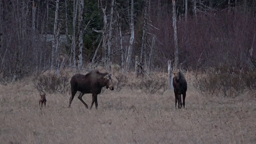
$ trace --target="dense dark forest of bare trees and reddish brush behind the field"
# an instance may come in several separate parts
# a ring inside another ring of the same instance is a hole
[[[255,70],[255,0],[176,0],[175,8],[180,69]],[[0,76],[108,64],[128,71],[136,56],[145,70],[167,71],[172,25],[171,0],[0,0]]]

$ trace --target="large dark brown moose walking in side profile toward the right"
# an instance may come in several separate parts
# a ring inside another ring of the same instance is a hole
[[[80,91],[78,99],[84,104],[86,108],[88,105],[82,99],[84,94],[92,94],[92,105],[95,102],[96,109],[98,108],[97,96],[100,94],[102,87],[106,86],[110,90],[114,90],[112,84],[111,74],[105,72],[101,73],[98,70],[93,70],[86,75],[75,74],[70,80],[71,85],[71,97],[69,99],[69,108],[72,103],[72,100],[77,91]],[[90,109],[92,109],[92,105]]]

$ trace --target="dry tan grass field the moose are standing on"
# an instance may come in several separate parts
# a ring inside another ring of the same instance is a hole
[[[71,78],[71,76],[70,76]],[[174,92],[145,94],[125,86],[104,90],[98,110],[88,110],[70,92],[40,95],[32,78],[0,85],[1,144],[256,144],[256,97],[203,96],[188,78],[186,108]],[[85,94],[90,107],[92,96]]]

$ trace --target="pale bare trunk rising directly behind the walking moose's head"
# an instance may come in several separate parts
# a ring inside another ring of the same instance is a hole
[[[111,72],[111,38],[112,38],[112,25],[113,25],[113,7],[114,0],[111,2],[110,22],[109,22],[109,33],[108,33],[108,52],[107,52],[107,71]]]

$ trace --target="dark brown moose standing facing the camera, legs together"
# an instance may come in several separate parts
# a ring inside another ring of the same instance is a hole
[[[174,75],[172,85],[175,94],[175,107],[177,106],[178,102],[178,108],[182,108],[182,105],[185,108],[187,81],[180,70],[174,70],[172,73]],[[183,97],[183,103],[181,102],[181,95]]]

